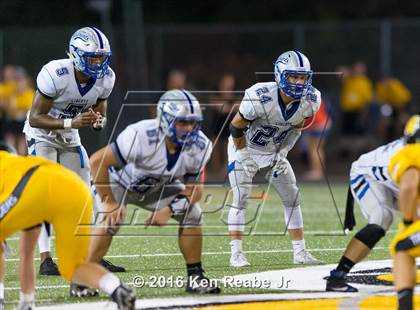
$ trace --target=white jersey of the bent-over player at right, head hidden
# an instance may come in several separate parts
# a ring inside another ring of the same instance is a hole
[[[369,176],[370,180],[383,184],[395,196],[398,195],[399,188],[388,174],[388,165],[391,158],[403,147],[404,140],[401,138],[363,154],[351,166],[350,182],[356,184],[361,176]]]

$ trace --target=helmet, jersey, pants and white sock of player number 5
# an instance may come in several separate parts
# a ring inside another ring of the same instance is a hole
[[[98,100],[107,99],[115,83],[115,73],[109,67],[111,46],[99,29],[84,27],[77,30],[70,38],[68,51],[69,59],[50,61],[36,79],[38,92],[53,102],[48,115],[57,119],[73,119]],[[75,70],[91,79],[80,84]],[[73,170],[90,187],[89,157],[80,142],[78,130],[34,128],[29,124],[29,115],[30,112],[23,129],[28,153]],[[41,253],[50,251],[50,232],[47,230],[43,225],[38,242]]]

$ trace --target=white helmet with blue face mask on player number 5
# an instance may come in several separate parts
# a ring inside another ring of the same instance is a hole
[[[99,29],[84,27],[71,36],[68,55],[77,71],[100,79],[108,73],[112,52],[108,39]]]

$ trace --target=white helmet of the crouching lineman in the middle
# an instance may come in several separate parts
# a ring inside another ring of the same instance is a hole
[[[174,89],[165,92],[157,106],[157,118],[163,133],[177,145],[191,145],[198,137],[203,114],[197,98],[187,90]],[[192,132],[179,131],[176,122],[194,123]]]

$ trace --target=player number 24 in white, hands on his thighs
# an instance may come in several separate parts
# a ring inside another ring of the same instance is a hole
[[[319,263],[305,247],[300,193],[287,154],[299,139],[304,120],[318,111],[321,93],[312,86],[310,63],[301,52],[281,54],[274,75],[275,82],[257,83],[245,91],[230,124],[228,173],[233,203],[228,223],[233,267],[249,265],[242,250],[245,210],[252,179],[265,167],[271,168],[267,180],[284,204],[294,263]]]

